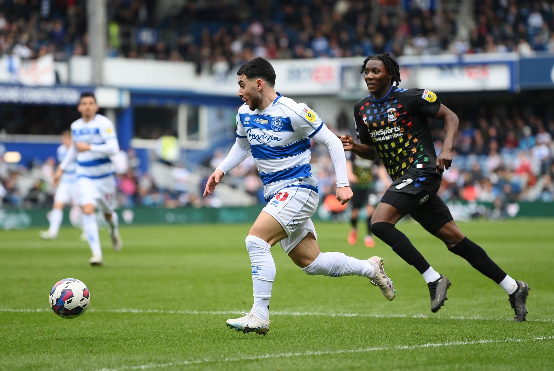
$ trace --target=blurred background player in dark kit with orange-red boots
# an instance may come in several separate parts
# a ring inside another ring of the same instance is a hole
[[[374,247],[375,241],[371,237],[371,216],[375,211],[375,205],[377,205],[378,200],[373,176],[377,172],[379,179],[387,187],[391,184],[391,181],[389,180],[387,170],[380,162],[379,165],[376,165],[375,162],[359,157],[351,151],[346,154],[346,171],[354,194],[350,201],[352,204],[352,215],[350,218],[352,230],[348,234],[348,243],[355,245],[358,240],[358,213],[363,206],[366,206],[367,234],[363,238],[363,243],[365,243],[366,247]]]

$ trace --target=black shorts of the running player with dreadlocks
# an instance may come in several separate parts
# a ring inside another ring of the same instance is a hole
[[[400,215],[411,215],[425,230],[434,235],[453,221],[448,206],[437,195],[441,177],[436,172],[408,170],[395,180],[381,202],[394,206]]]

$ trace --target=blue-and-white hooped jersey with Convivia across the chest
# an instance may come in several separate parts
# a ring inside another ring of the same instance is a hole
[[[289,186],[317,192],[317,180],[310,167],[310,138],[323,125],[306,104],[279,93],[263,111],[251,111],[246,103],[240,106],[237,136],[250,144],[266,201]]]

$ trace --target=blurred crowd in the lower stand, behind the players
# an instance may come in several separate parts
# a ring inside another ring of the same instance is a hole
[[[349,121],[348,114],[342,111],[336,118],[334,130],[345,133]],[[438,153],[444,131],[439,123],[432,122],[431,128]],[[493,202],[499,210],[516,201],[554,201],[553,137],[552,108],[541,111],[526,106],[512,110],[505,105],[494,111],[482,108],[473,116],[460,116],[453,166],[444,172],[440,195],[447,201]],[[176,162],[167,172],[172,186],[164,189],[156,186],[151,172],[141,171],[140,159],[130,149],[119,156],[124,162],[117,176],[119,204],[122,207],[170,208],[224,205],[217,198],[201,196],[207,176],[224,156],[224,151],[217,150],[204,161],[204,166],[194,170]],[[3,207],[50,207],[56,165],[53,157],[42,164],[25,167],[7,164],[0,156],[0,204]],[[335,192],[335,171],[326,149],[315,143],[312,143],[311,166],[323,201],[326,195]],[[249,194],[252,204],[264,202],[263,186],[252,157],[233,169],[223,182]],[[383,190],[383,185],[377,182],[376,191]]]

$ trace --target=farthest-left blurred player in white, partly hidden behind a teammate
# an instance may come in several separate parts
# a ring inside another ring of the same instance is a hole
[[[62,162],[68,153],[71,146],[71,131],[66,130],[61,133],[61,145],[58,147],[57,156],[58,161]],[[72,161],[66,167],[64,175],[61,176],[58,189],[54,194],[54,205],[52,211],[50,211],[50,227],[48,231],[40,231],[39,236],[43,240],[54,240],[58,238],[58,232],[60,230],[61,221],[64,217],[64,206],[71,205],[76,207],[79,205],[78,190],[77,190],[77,176],[75,170],[77,169],[77,162]]]

